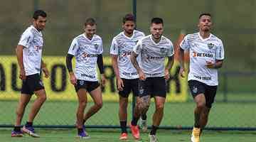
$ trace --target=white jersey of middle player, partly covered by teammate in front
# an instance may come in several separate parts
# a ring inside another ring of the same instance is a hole
[[[122,32],[113,38],[110,54],[118,55],[117,64],[121,78],[139,78],[137,70],[130,60],[130,55],[137,41],[144,36],[144,33],[134,30],[132,37],[127,37],[127,35],[124,35],[124,32]],[[139,58],[137,58],[137,61],[139,62]]]

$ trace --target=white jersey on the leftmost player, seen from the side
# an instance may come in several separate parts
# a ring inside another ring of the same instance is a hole
[[[43,35],[34,26],[29,26],[23,32],[18,45],[23,48],[23,66],[26,76],[40,73],[42,49],[43,49]]]

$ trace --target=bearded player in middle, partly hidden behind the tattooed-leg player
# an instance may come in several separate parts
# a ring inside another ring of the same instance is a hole
[[[117,89],[119,93],[119,121],[121,127],[120,140],[126,140],[127,135],[127,104],[129,93],[132,91],[137,102],[139,102],[139,75],[133,67],[130,60],[132,49],[139,39],[144,37],[144,33],[134,30],[135,18],[132,14],[124,16],[122,28],[124,31],[116,35],[112,40],[110,55],[112,56],[112,67],[114,74],[117,77]],[[138,105],[134,110],[134,115],[139,116]],[[144,129],[146,129],[144,119]],[[134,138],[139,138],[139,131],[133,133]]]

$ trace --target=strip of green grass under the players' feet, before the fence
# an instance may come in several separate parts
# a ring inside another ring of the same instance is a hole
[[[38,133],[41,134],[41,138],[31,138],[24,136],[23,138],[11,138],[10,129],[0,130],[1,142],[76,142],[76,141],[88,141],[88,142],[107,142],[107,141],[119,141],[119,132],[112,129],[105,130],[89,130],[90,139],[80,140],[75,138],[75,129],[39,129]],[[190,131],[158,131],[158,138],[160,142],[169,141],[186,141],[189,142]],[[141,133],[142,138],[139,141],[148,141],[148,133]],[[255,142],[256,132],[253,131],[204,131],[201,141],[207,142]],[[129,140],[135,141],[132,135],[129,133]],[[139,142],[138,141],[138,142]]]

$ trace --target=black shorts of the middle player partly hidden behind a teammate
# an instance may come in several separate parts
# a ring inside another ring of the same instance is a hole
[[[123,90],[118,92],[118,94],[121,97],[129,97],[129,94],[131,91],[134,97],[139,96],[139,79],[129,80],[129,79],[122,78],[122,81],[124,83]]]

